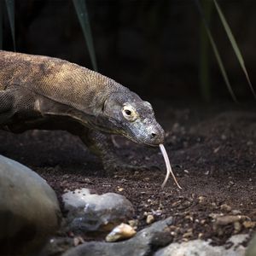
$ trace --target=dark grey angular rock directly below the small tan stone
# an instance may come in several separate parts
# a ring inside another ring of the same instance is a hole
[[[172,241],[169,226],[172,217],[155,222],[149,228],[141,230],[127,241],[102,242],[90,241],[74,247],[63,256],[146,256]]]

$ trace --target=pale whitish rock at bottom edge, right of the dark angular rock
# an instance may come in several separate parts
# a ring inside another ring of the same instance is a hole
[[[209,241],[193,240],[182,243],[172,243],[168,247],[160,249],[154,256],[244,256],[246,248],[241,245],[247,239],[247,235],[230,237],[232,247],[215,247]],[[255,254],[254,254],[255,255]]]

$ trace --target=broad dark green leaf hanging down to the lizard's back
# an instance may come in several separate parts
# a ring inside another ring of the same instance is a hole
[[[93,40],[91,36],[91,31],[90,31],[90,20],[89,20],[85,0],[73,0],[73,5],[76,9],[77,15],[79,17],[79,22],[84,33],[84,38],[89,50],[92,67],[95,71],[97,71],[96,54],[93,46]]]

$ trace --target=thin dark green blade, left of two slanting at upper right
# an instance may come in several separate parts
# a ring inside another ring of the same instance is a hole
[[[206,19],[204,13],[203,13],[202,8],[201,8],[201,3],[200,3],[198,0],[195,0],[195,4],[196,4],[196,6],[197,6],[197,8],[198,8],[198,10],[199,10],[199,13],[200,13],[200,15],[201,15],[202,22],[203,22],[203,24],[204,24],[204,26],[205,26],[205,29],[206,29],[206,31],[207,31],[208,38],[209,38],[210,43],[211,43],[211,45],[212,45],[212,50],[213,50],[213,53],[214,53],[214,55],[215,55],[215,57],[216,57],[216,60],[218,61],[218,67],[219,67],[219,69],[220,69],[220,72],[222,73],[222,76],[223,76],[223,78],[224,78],[224,82],[225,82],[225,84],[227,85],[227,88],[228,88],[228,90],[230,91],[230,95],[232,96],[234,102],[237,102],[237,100],[236,100],[236,95],[235,95],[235,93],[234,93],[234,91],[233,91],[233,89],[232,89],[232,87],[231,87],[231,84],[230,84],[230,79],[229,79],[229,77],[228,77],[228,75],[227,75],[227,73],[226,73],[226,70],[225,70],[225,68],[224,68],[223,61],[222,61],[222,59],[221,59],[221,57],[220,57],[220,55],[219,55],[217,45],[215,44],[215,41],[214,41],[214,39],[212,38],[212,32],[211,32],[211,30],[210,30],[210,28],[209,28],[207,19]]]

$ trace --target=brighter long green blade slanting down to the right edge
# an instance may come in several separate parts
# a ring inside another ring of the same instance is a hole
[[[240,51],[238,45],[236,44],[236,39],[234,38],[234,35],[231,32],[230,26],[229,26],[227,20],[225,19],[223,12],[222,12],[222,10],[220,9],[220,7],[218,5],[217,0],[213,0],[213,2],[214,2],[215,7],[217,9],[219,18],[220,18],[220,20],[222,22],[222,25],[224,26],[224,30],[227,33],[228,38],[230,39],[230,44],[232,45],[232,47],[233,47],[233,49],[234,49],[234,51],[236,53],[236,58],[239,61],[241,69],[242,69],[243,73],[245,74],[245,76],[247,78],[247,83],[249,84],[250,89],[253,92],[253,96],[256,99],[256,94],[255,94],[255,91],[253,89],[253,84],[251,83],[251,80],[250,80],[249,75],[247,73],[247,68],[245,67],[245,63],[244,63],[244,60],[242,58],[241,51]]]

